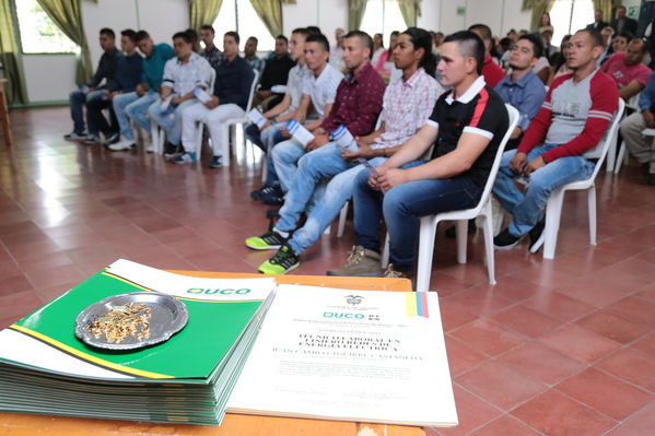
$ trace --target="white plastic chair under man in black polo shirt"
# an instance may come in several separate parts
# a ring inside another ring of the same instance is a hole
[[[475,208],[466,209],[461,211],[443,212],[436,215],[428,215],[421,217],[420,231],[419,231],[419,264],[417,271],[417,292],[425,292],[430,286],[430,275],[432,273],[432,254],[434,251],[434,237],[436,235],[436,226],[440,221],[456,221],[457,228],[457,261],[459,263],[466,263],[466,244],[468,233],[468,220],[477,216],[482,216],[484,225],[482,231],[484,234],[484,250],[487,252],[487,270],[489,272],[489,283],[495,284],[494,273],[494,258],[493,258],[493,212],[491,209],[491,188],[495,181],[501,158],[505,151],[505,145],[510,140],[510,135],[514,131],[516,123],[518,122],[518,110],[511,105],[505,105],[507,114],[510,116],[510,123],[507,131],[499,144],[489,178],[484,185],[484,190],[480,197],[480,201]],[[389,259],[389,238],[385,241],[385,248],[383,252],[383,266],[386,267]]]

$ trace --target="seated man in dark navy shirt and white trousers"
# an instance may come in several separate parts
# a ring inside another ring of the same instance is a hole
[[[215,69],[217,79],[211,99],[189,106],[182,113],[182,144],[185,152],[175,158],[176,164],[196,162],[196,122],[201,121],[207,125],[213,146],[213,157],[209,167],[221,167],[222,141],[225,139],[221,132],[226,129],[223,122],[246,115],[255,72],[248,62],[238,56],[236,32],[223,35],[223,55],[225,60]]]

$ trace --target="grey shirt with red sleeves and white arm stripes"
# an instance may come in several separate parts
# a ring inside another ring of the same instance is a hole
[[[559,146],[543,153],[546,162],[577,156],[594,149],[603,139],[619,105],[613,80],[596,69],[578,83],[573,73],[554,80],[546,101],[530,122],[519,153],[528,153],[542,142]],[[598,157],[594,153],[586,157]]]

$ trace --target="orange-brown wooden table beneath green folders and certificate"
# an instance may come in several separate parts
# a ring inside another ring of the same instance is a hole
[[[261,278],[261,274],[175,271],[202,278]],[[279,283],[353,290],[411,291],[407,279],[339,278],[324,275],[276,276]],[[367,429],[366,429],[367,428]],[[69,416],[0,413],[3,436],[424,436],[420,427],[353,422],[227,414],[220,427],[93,420]]]

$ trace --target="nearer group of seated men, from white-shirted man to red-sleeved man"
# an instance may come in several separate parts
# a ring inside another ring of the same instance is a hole
[[[493,79],[488,80],[488,72],[499,68],[489,61],[490,39],[491,32],[482,24],[449,35],[436,66],[440,83],[434,79],[430,34],[410,27],[400,34],[393,54],[401,78],[385,89],[370,62],[367,34],[346,35],[348,74],[343,78],[330,71],[327,39],[304,38],[304,58],[296,61],[309,70],[309,80],[296,84],[303,90],[297,108],[280,113],[273,108],[264,114],[267,123],[247,129],[248,138],[267,151],[282,190],[277,224],[245,240],[252,249],[278,250],[259,267],[260,272],[281,274],[297,268],[301,254],[318,240],[352,197],[355,246],[346,266],[328,274],[411,276],[419,217],[468,209],[479,201],[508,127],[505,103],[515,106],[521,118],[511,133],[517,149],[503,155],[493,187],[513,215],[494,246],[510,249],[527,235],[530,246],[540,244],[550,192],[590,176],[595,164],[583,154],[606,133],[619,91],[596,66],[604,50],[596,31],[582,30],[572,36],[571,72],[553,81],[548,92],[531,71],[542,50],[538,36],[517,40],[512,74],[503,76],[495,90],[489,83]],[[326,89],[335,82],[334,97],[326,98]],[[313,120],[304,113],[309,103],[318,110],[323,107]],[[383,121],[375,130],[381,114]],[[291,118],[305,121],[314,138],[303,144],[292,137],[284,123]],[[355,137],[356,152],[342,150],[332,135],[341,125]],[[515,186],[517,177],[527,180],[525,191]],[[329,181],[324,186],[325,179]],[[274,188],[265,186],[253,196],[261,198]],[[300,226],[302,213],[306,220]],[[383,219],[390,240],[386,271],[381,268]]]

